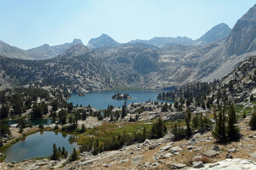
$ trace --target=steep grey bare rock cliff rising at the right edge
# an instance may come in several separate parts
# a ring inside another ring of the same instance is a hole
[[[226,56],[256,50],[256,4],[236,22],[226,43]]]

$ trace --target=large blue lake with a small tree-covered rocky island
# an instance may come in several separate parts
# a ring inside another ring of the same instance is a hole
[[[111,99],[113,95],[115,95],[117,92],[121,92],[121,94],[127,93],[132,98],[128,100],[115,100]],[[108,105],[113,105],[116,107],[122,107],[124,104],[124,101],[127,102],[127,105],[133,103],[141,103],[148,101],[151,99],[151,101],[163,101],[165,100],[157,100],[157,96],[160,92],[163,92],[163,90],[104,90],[104,91],[91,91],[85,93],[85,96],[78,96],[77,92],[74,92],[71,94],[71,98],[68,99],[68,103],[73,103],[75,106],[78,104],[82,104],[82,106],[88,106],[89,104],[92,107],[95,107],[97,109],[105,109],[108,107]],[[171,101],[167,101],[167,103],[172,103]]]

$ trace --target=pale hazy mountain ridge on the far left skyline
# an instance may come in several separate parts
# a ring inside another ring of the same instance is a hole
[[[44,60],[64,53],[67,48],[75,44],[83,45],[80,39],[74,39],[73,43],[65,43],[57,46],[49,46],[49,44],[44,44],[39,47],[24,50],[0,41],[0,55],[25,60]]]

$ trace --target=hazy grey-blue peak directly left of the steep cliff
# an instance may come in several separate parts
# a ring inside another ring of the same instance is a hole
[[[220,23],[215,25],[212,29],[207,31],[202,37],[195,41],[195,45],[208,44],[213,41],[225,38],[229,36],[231,28],[226,23]]]

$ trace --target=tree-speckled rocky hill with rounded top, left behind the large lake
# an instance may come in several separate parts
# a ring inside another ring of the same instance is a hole
[[[18,68],[18,69],[17,69]],[[101,90],[113,88],[107,66],[91,50],[75,44],[65,53],[50,60],[26,61],[1,57],[1,86],[67,86],[71,90]]]

